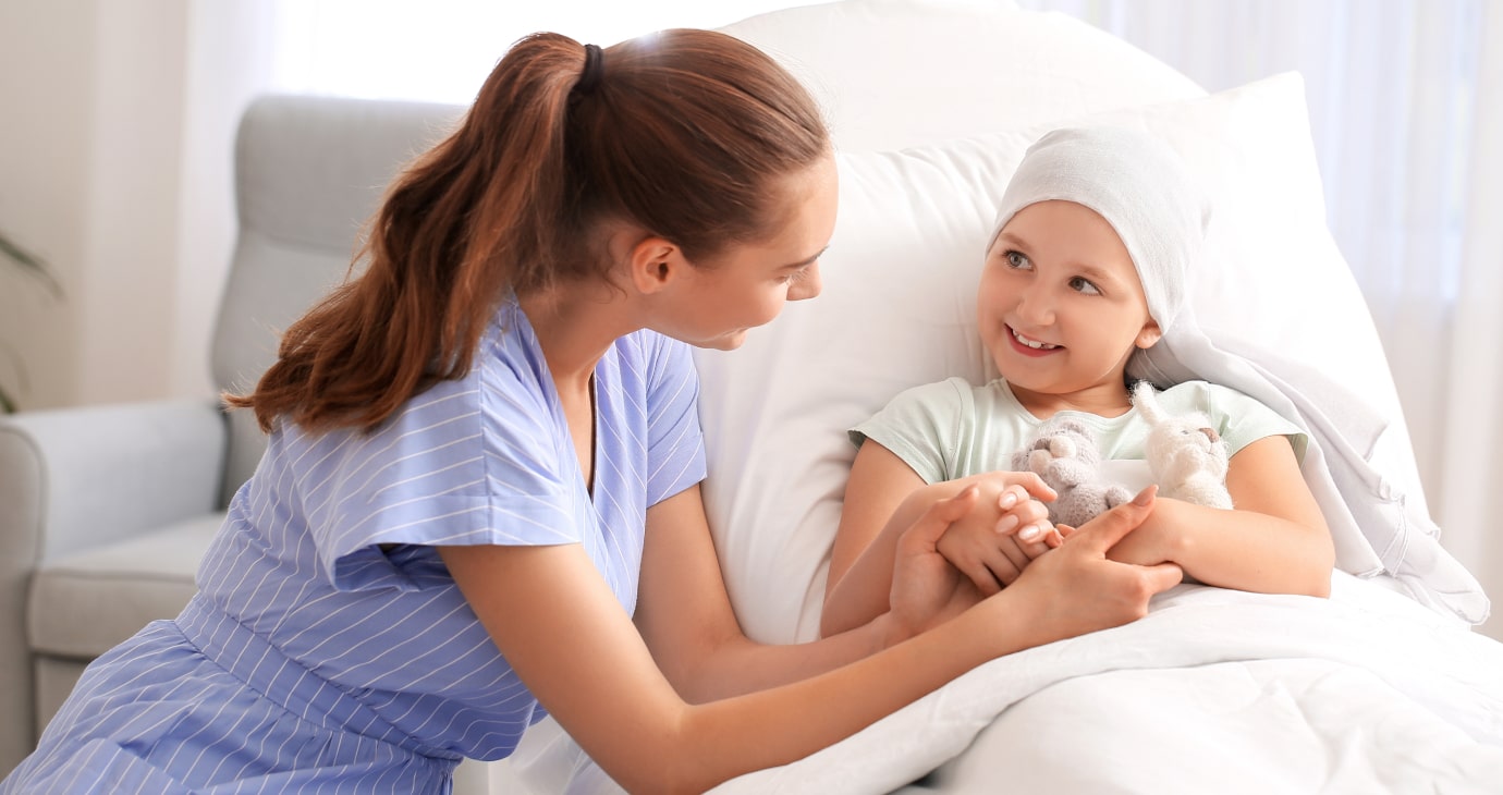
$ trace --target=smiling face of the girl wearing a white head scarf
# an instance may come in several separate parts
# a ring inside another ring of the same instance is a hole
[[[1031,410],[1120,410],[1135,347],[1159,340],[1132,257],[1105,218],[1073,201],[1019,210],[987,251],[981,341]]]

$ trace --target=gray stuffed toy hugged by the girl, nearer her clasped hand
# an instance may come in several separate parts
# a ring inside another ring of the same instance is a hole
[[[1078,419],[1046,422],[1013,454],[1013,470],[1039,475],[1060,494],[1049,503],[1049,521],[1072,527],[1132,499],[1126,487],[1102,481],[1096,436]]]

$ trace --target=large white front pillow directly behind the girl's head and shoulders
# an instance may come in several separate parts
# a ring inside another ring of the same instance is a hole
[[[1048,129],[1120,123],[1163,137],[1213,201],[1192,302],[1202,326],[1335,376],[1393,422],[1401,485],[1420,494],[1366,304],[1326,227],[1303,83],[1278,75],[1196,99],[897,150],[842,153],[825,292],[741,350],[696,352],[705,500],[736,615],[765,642],[816,636],[855,448],[846,428],[909,386],[992,377],[975,283],[995,204]]]

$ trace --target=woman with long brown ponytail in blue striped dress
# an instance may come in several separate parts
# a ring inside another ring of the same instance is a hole
[[[881,616],[741,634],[687,344],[815,296],[834,212],[815,104],[738,39],[519,42],[230,398],[269,443],[200,594],[95,661],[0,792],[439,793],[546,712],[627,789],[702,792],[1141,616],[1178,570],[1105,550],[1151,494],[978,601],[935,550],[968,490],[897,537]]]

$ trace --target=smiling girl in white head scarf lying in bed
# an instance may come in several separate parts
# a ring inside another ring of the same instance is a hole
[[[1007,467],[1045,421],[1079,419],[1103,458],[1144,457],[1148,424],[1132,406],[1126,371],[1184,301],[1205,218],[1196,195],[1177,155],[1147,134],[1064,129],[1028,150],[1003,195],[977,296],[981,341],[1001,377],[909,389],[852,431],[860,451],[831,555],[827,634],[887,609],[893,538],[905,521],[969,478]],[[1300,475],[1300,430],[1201,380],[1169,388],[1159,403],[1211,418],[1232,452],[1234,508],[1160,499],[1111,558],[1172,561],[1225,588],[1327,595],[1335,552]],[[983,594],[1057,543],[1042,505],[1016,493],[1001,499],[989,518],[957,524],[939,543]]]

